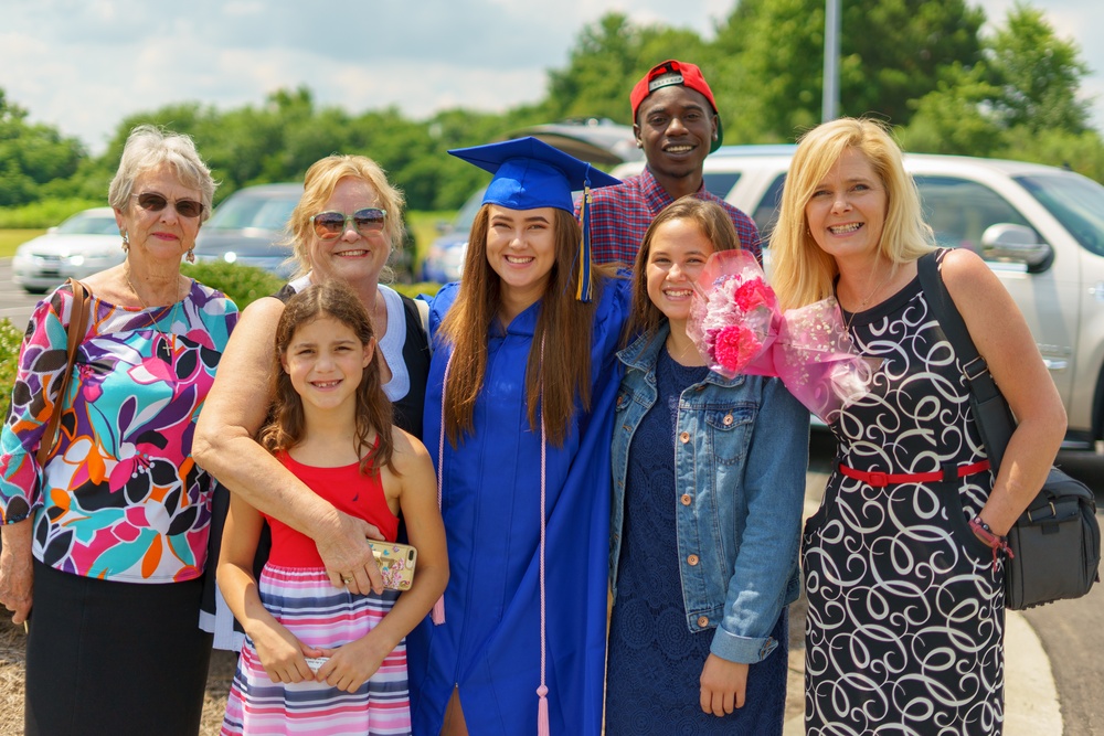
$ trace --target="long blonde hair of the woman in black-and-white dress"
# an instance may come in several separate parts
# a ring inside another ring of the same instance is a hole
[[[836,162],[848,150],[866,157],[885,188],[885,223],[878,244],[898,265],[915,260],[935,243],[924,222],[916,182],[904,170],[901,148],[887,126],[867,118],[840,118],[813,128],[797,145],[782,191],[778,224],[771,237],[771,284],[784,309],[804,307],[832,295],[836,259],[813,239],[805,207]]]

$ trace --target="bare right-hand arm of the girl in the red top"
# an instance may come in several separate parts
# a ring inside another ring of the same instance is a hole
[[[319,679],[349,692],[371,678],[403,637],[425,618],[448,583],[445,525],[437,509],[437,483],[429,454],[417,439],[393,429],[395,467],[384,482],[401,484],[399,497],[410,542],[417,550],[414,584],[403,591],[383,620],[363,638],[338,649],[318,671]]]

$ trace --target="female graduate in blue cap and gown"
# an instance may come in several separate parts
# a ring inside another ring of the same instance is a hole
[[[572,190],[618,182],[533,138],[449,152],[495,178],[429,310],[450,577],[407,637],[413,730],[596,736],[628,282],[591,273]]]

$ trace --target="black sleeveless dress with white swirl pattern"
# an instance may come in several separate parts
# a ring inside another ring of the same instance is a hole
[[[852,317],[857,345],[883,362],[831,425],[837,469],[805,527],[807,734],[1000,734],[1004,570],[968,526],[989,472],[872,488],[838,470],[984,460],[968,388],[919,279]]]

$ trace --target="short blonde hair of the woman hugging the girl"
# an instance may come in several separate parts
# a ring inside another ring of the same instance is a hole
[[[388,174],[367,156],[327,156],[312,163],[302,180],[302,196],[288,217],[290,260],[296,265],[293,278],[305,276],[311,268],[309,244],[315,237],[310,218],[322,211],[342,179],[358,179],[380,195],[380,209],[388,215],[383,235],[390,248],[402,247],[403,193],[388,181]]]

